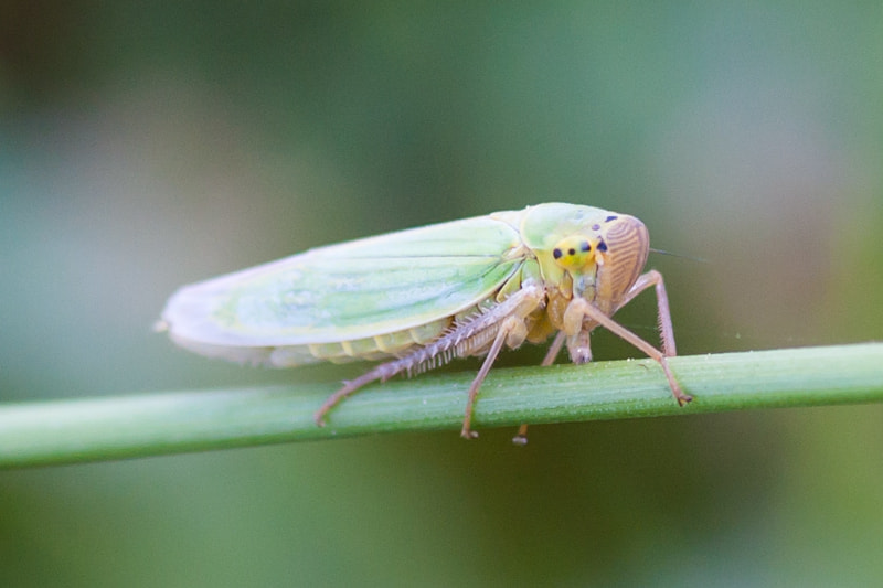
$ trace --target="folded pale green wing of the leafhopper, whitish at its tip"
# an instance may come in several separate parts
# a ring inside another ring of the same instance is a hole
[[[376,336],[491,296],[522,258],[509,223],[480,216],[310,249],[181,288],[162,320],[177,340],[284,346]]]

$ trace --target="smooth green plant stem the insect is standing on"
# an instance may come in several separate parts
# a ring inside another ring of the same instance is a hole
[[[883,402],[883,343],[673,357],[695,398],[680,408],[650,360],[492,371],[478,430],[770,407]],[[380,431],[459,430],[474,374],[372,385],[325,428],[312,413],[338,383],[0,405],[0,467],[179,453]]]

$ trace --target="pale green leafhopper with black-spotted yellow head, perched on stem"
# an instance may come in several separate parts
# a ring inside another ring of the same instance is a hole
[[[500,351],[553,333],[543,365],[564,345],[574,363],[591,361],[589,334],[604,327],[659,363],[680,405],[691,400],[667,361],[675,348],[662,276],[641,274],[649,249],[634,216],[539,204],[309,249],[184,286],[161,325],[182,348],[254,365],[383,361],[329,396],[316,411],[319,426],[371,382],[483,356],[462,419],[469,439],[479,387]],[[661,349],[611,318],[651,287]],[[525,431],[522,425],[514,441],[526,442]]]

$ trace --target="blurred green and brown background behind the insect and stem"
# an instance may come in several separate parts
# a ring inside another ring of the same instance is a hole
[[[185,282],[546,201],[706,260],[651,256],[682,354],[880,339],[882,30],[879,1],[3,2],[0,398],[351,376],[212,362],[151,324]],[[652,336],[652,296],[619,318]],[[0,585],[874,585],[881,418],[4,471]]]

